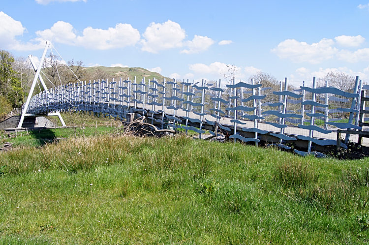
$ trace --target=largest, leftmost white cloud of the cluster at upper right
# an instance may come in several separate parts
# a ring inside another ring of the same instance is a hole
[[[323,38],[318,43],[307,44],[295,39],[287,39],[279,43],[271,51],[281,59],[290,59],[294,62],[320,63],[329,60],[338,52],[337,48],[332,48],[335,42],[332,39]]]

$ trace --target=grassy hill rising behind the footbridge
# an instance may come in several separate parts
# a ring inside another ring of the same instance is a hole
[[[153,80],[154,78],[161,81],[164,76],[157,72],[149,71],[147,69],[141,68],[141,67],[106,67],[106,66],[94,66],[94,67],[87,67],[84,70],[89,72],[90,74],[93,74],[97,69],[101,69],[105,72],[107,72],[109,75],[114,77],[115,79],[119,79],[122,77],[122,79],[126,79],[129,77],[130,80],[133,81],[134,77],[136,76],[137,82],[141,82],[142,78],[145,77],[145,79]],[[165,79],[172,80],[172,78],[165,77]]]

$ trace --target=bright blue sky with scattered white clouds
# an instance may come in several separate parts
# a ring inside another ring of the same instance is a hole
[[[227,65],[236,81],[258,71],[295,86],[329,71],[369,81],[362,0],[1,0],[0,50],[39,59],[46,40],[65,61],[190,81],[224,80]]]

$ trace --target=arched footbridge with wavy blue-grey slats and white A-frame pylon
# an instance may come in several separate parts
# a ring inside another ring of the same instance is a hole
[[[48,89],[40,72],[49,46],[47,41],[39,67],[32,62],[35,76],[22,107],[19,129],[26,117],[42,115],[58,116],[65,126],[60,112],[69,110],[122,121],[129,120],[132,114],[141,114],[157,128],[164,124],[181,127],[199,133],[200,138],[205,129],[214,135],[216,123],[235,142],[272,142],[285,149],[290,149],[289,144],[299,145],[307,149],[295,150],[301,155],[336,145],[337,129],[362,130],[359,94],[369,88],[363,86],[359,76],[351,91],[330,87],[328,82],[317,88],[315,77],[311,88],[303,82],[294,91],[288,90],[287,78],[280,82],[279,91],[255,84],[252,79],[251,83],[233,80],[222,84],[220,79],[195,83],[188,79],[158,81],[145,77],[142,81],[136,77],[79,81]],[[44,91],[32,96],[37,80]],[[346,134],[346,144],[348,140],[350,135]],[[345,143],[341,147],[347,148]]]

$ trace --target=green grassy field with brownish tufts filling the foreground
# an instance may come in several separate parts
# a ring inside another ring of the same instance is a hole
[[[0,157],[0,245],[369,241],[367,158],[109,135]]]

